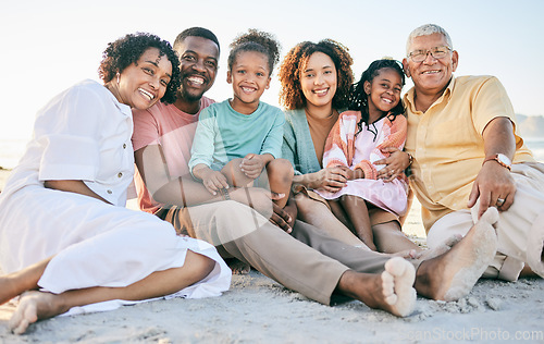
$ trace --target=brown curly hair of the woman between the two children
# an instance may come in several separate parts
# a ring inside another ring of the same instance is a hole
[[[354,83],[354,72],[351,71],[354,60],[351,60],[346,47],[332,39],[323,39],[318,44],[302,41],[290,49],[285,56],[280,66],[279,75],[280,82],[282,83],[280,102],[287,110],[302,109],[306,107],[306,97],[300,86],[300,77],[308,59],[314,52],[323,52],[333,60],[337,77],[336,94],[333,97],[333,108],[346,108],[349,88]]]

